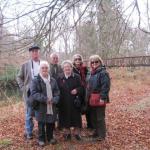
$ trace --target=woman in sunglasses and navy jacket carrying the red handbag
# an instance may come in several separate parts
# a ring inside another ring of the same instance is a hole
[[[101,106],[91,107],[91,119],[95,129],[93,134],[94,140],[104,140],[106,137],[106,124],[105,124],[105,109],[106,104],[109,102],[110,78],[103,67],[103,61],[98,55],[90,57],[91,75],[88,81],[88,100],[90,100],[92,93],[99,93],[99,102]]]

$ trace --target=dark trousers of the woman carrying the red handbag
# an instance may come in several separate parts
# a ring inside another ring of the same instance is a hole
[[[105,109],[106,106],[91,107],[92,126],[95,129],[96,135],[101,138],[106,137]]]

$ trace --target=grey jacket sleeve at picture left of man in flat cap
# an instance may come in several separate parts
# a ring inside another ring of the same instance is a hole
[[[25,64],[23,64],[20,69],[19,69],[19,72],[17,74],[17,77],[16,77],[16,80],[17,80],[17,83],[19,85],[19,88],[21,89],[21,91],[23,91],[23,88],[24,88],[24,69],[25,69]]]

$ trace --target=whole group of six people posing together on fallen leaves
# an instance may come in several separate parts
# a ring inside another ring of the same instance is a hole
[[[33,138],[34,116],[38,122],[40,146],[46,141],[57,143],[53,135],[56,121],[58,128],[64,131],[65,141],[71,140],[72,136],[81,141],[82,114],[85,114],[87,128],[93,129],[92,138],[105,140],[110,78],[102,59],[92,55],[88,68],[80,54],[59,65],[56,53],[50,55],[50,63],[40,59],[38,46],[30,47],[29,53],[31,59],[20,67],[17,75],[25,101],[26,138]]]

